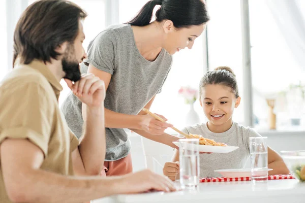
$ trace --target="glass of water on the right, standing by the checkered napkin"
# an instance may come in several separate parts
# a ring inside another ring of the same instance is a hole
[[[268,180],[267,137],[250,138],[251,178],[255,182]]]

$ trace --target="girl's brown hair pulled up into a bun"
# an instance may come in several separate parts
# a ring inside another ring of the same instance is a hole
[[[206,72],[203,78],[200,80],[200,94],[205,86],[217,84],[230,87],[232,89],[232,93],[235,94],[235,98],[239,97],[236,76],[230,67],[219,66],[214,71]]]

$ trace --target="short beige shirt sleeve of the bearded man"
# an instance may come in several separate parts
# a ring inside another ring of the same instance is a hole
[[[0,92],[0,144],[7,138],[28,139],[48,152],[53,120],[50,99],[38,83]]]

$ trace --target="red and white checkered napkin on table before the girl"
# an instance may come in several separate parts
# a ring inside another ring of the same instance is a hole
[[[271,175],[268,176],[268,180],[280,180],[280,179],[294,179],[294,177],[291,174],[288,175]],[[226,178],[226,177],[220,177],[220,178],[201,178],[199,179],[200,183],[209,183],[209,182],[230,182],[230,181],[251,181],[251,177],[239,177],[239,178]]]

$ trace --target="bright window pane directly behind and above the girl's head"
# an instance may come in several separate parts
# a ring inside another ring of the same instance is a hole
[[[244,104],[240,1],[209,0],[207,7],[210,15],[207,24],[208,67],[211,71],[226,65],[234,71],[241,103],[234,111],[233,120],[242,124]]]

